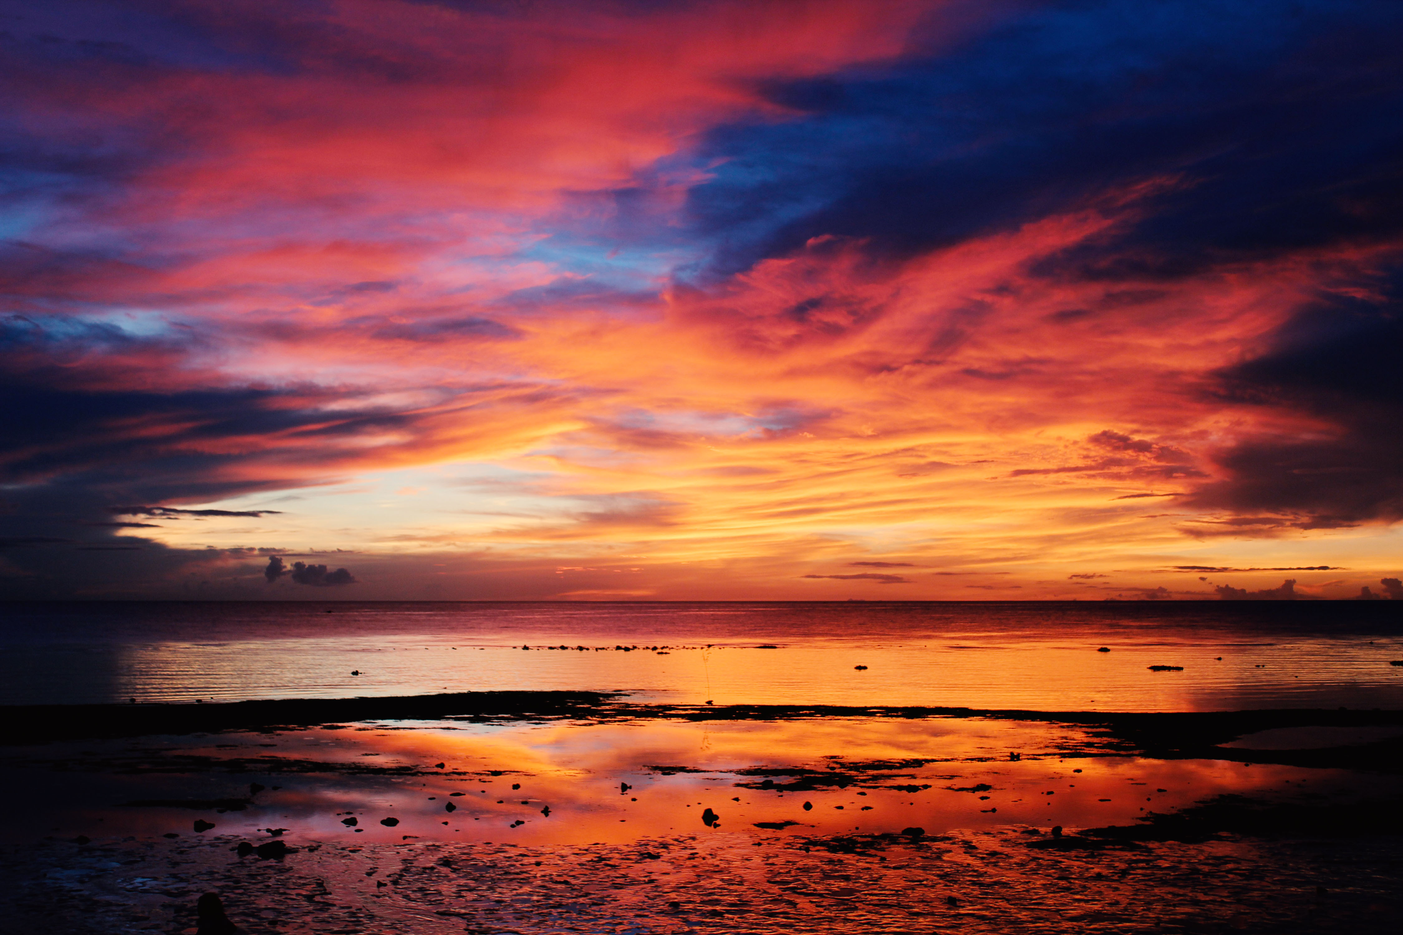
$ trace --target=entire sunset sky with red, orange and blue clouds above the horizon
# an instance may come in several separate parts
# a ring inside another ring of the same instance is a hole
[[[0,596],[1403,599],[1400,42],[4,0]]]

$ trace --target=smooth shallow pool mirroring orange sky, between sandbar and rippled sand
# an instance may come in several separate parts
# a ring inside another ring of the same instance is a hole
[[[32,838],[53,826],[90,837],[189,835],[195,819],[250,838],[285,828],[289,842],[937,834],[1127,824],[1223,792],[1390,788],[1382,777],[1333,770],[1079,756],[1087,747],[1083,730],[1061,725],[948,718],[362,725],[194,743],[86,742],[81,751],[31,751],[11,770],[35,795],[7,835]],[[62,772],[41,774],[45,767]],[[251,795],[251,784],[265,788]],[[703,823],[706,809],[718,823]]]

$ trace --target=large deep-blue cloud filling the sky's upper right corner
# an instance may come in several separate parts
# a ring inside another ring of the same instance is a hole
[[[710,272],[811,237],[905,255],[1180,175],[1045,275],[1173,276],[1403,226],[1403,6],[1037,4],[961,48],[766,87],[803,111],[716,130],[690,193]]]

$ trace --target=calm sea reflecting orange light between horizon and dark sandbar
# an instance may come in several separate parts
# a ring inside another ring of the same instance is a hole
[[[1403,667],[1389,664],[1403,659],[1403,604],[1388,601],[72,603],[0,615],[10,705],[574,688],[718,705],[1403,707]]]

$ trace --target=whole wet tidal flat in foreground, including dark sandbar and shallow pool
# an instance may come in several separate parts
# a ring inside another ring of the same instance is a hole
[[[194,932],[203,892],[250,934],[328,935],[1382,932],[1403,910],[1396,711],[4,714],[4,931]]]

